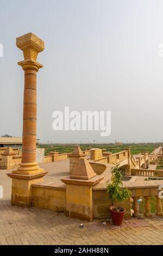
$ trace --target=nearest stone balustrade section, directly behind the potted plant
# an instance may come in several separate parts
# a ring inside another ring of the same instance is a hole
[[[107,218],[110,217],[110,206],[112,205],[108,194],[106,193],[107,183],[98,183],[93,187],[93,216],[95,218]],[[147,217],[152,217],[151,213],[151,197],[156,197],[155,200],[155,214],[162,216],[162,202],[159,198],[159,186],[163,186],[163,180],[153,180],[153,181],[124,181],[123,186],[128,187],[131,191],[131,198],[126,202],[119,203],[124,208],[126,208],[125,218],[131,217],[131,208],[133,208],[133,216],[137,217],[140,215],[139,210],[139,200],[142,198],[145,200],[144,215]],[[118,204],[118,203],[116,203]]]

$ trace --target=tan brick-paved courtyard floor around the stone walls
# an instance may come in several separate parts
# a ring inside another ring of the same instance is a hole
[[[69,162],[44,163],[40,167],[48,171],[45,180],[60,182],[61,176],[68,175]],[[0,199],[1,245],[163,245],[160,217],[131,218],[116,227],[109,219],[89,223],[50,210],[11,206],[9,172],[0,170],[0,185],[4,188],[4,198]]]

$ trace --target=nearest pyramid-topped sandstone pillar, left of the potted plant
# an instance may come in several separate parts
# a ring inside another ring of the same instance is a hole
[[[92,187],[104,177],[96,176],[89,161],[80,159],[70,177],[61,179],[66,184],[66,214],[81,220],[93,220]]]

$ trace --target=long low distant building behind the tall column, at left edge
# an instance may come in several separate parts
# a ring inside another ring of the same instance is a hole
[[[38,143],[36,143],[36,146],[38,145]],[[21,149],[22,148],[22,137],[11,137],[11,136],[7,136],[7,137],[0,137],[0,148],[7,148],[7,147],[11,147],[11,148],[17,148],[17,149]]]

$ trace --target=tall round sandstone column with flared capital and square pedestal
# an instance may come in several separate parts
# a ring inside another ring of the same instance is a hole
[[[43,67],[36,60],[38,53],[44,50],[44,42],[33,33],[28,33],[16,39],[16,46],[24,55],[24,60],[18,62],[24,70],[22,163],[8,176],[12,178],[11,204],[30,207],[32,184],[43,181],[46,174],[36,162],[36,74]]]

